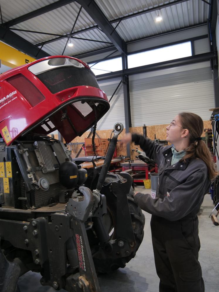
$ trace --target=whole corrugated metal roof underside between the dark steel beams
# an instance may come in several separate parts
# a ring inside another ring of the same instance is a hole
[[[95,0],[108,20],[114,20],[122,16],[130,15],[139,11],[167,4],[171,1],[165,0]],[[1,11],[3,22],[34,11],[38,8],[54,3],[53,0],[1,0]],[[31,18],[27,21],[16,24],[12,28],[33,30],[38,32],[66,35],[71,32],[74,21],[77,17],[80,5],[72,2],[47,13]],[[116,31],[125,42],[139,38],[153,36],[159,33],[171,31],[186,26],[206,22],[208,18],[209,5],[200,0],[188,0],[179,4],[168,6],[159,10],[163,20],[155,21],[157,11],[147,12],[120,22]],[[112,26],[116,26],[113,23]],[[95,26],[96,23],[89,14],[82,9],[73,32]],[[56,38],[56,36],[15,31],[25,40],[32,44],[39,44]],[[109,42],[109,39],[99,29],[92,29],[75,35],[87,39],[95,39]],[[51,55],[61,54],[66,43],[66,38],[43,46],[43,50]],[[94,43],[85,40],[74,40],[74,47],[67,48],[65,54],[78,55],[83,52],[109,47],[110,44]]]

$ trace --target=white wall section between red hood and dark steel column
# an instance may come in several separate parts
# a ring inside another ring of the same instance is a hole
[[[110,100],[113,92],[116,90],[120,82],[120,78],[109,79],[98,82],[100,88],[106,93],[108,100]],[[97,130],[113,129],[116,122],[123,123],[125,127],[125,112],[123,99],[123,84],[121,83],[115,95],[110,101],[110,109],[97,123]]]

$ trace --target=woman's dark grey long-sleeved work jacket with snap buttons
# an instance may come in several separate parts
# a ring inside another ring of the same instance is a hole
[[[172,146],[163,147],[141,135],[133,134],[132,141],[159,167],[156,198],[137,193],[135,203],[146,212],[170,221],[195,216],[210,189],[207,166],[201,159],[171,165]]]

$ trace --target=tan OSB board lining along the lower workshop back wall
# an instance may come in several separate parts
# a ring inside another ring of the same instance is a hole
[[[155,134],[156,138],[160,140],[166,140],[166,127],[168,125],[153,125],[153,126],[147,126],[147,136],[149,139],[154,140],[155,139]],[[204,121],[204,128],[208,129],[211,128],[211,124],[209,120]],[[143,125],[142,127],[133,127],[130,128],[129,131],[131,133],[138,133],[140,135],[143,135]],[[84,142],[84,139],[88,137],[90,131],[85,132],[81,137],[76,137],[74,140],[72,140],[72,143],[77,143],[77,142]],[[96,131],[96,133],[100,136],[100,138],[103,139],[108,139],[111,136],[112,130],[99,130]],[[121,140],[125,135],[125,129],[123,132],[119,135],[119,140]],[[57,135],[58,136],[58,135]],[[202,137],[205,136],[205,133],[203,132]],[[92,137],[92,135],[90,136]],[[58,137],[55,138],[58,139]],[[97,136],[96,136],[97,138]],[[70,145],[68,146],[69,149],[72,150],[72,157],[75,157],[78,151],[80,150],[82,144],[78,145]],[[131,143],[130,145],[130,150],[134,149],[136,150],[136,145],[134,143]],[[80,153],[79,156],[84,156],[84,150]],[[126,146],[122,145],[121,142],[118,142],[117,144],[117,155],[126,155]],[[131,159],[135,159],[136,152],[131,151]]]

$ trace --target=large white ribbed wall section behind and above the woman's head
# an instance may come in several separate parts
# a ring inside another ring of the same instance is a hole
[[[130,104],[132,126],[169,123],[181,111],[210,118],[214,107],[210,62],[132,75]]]

